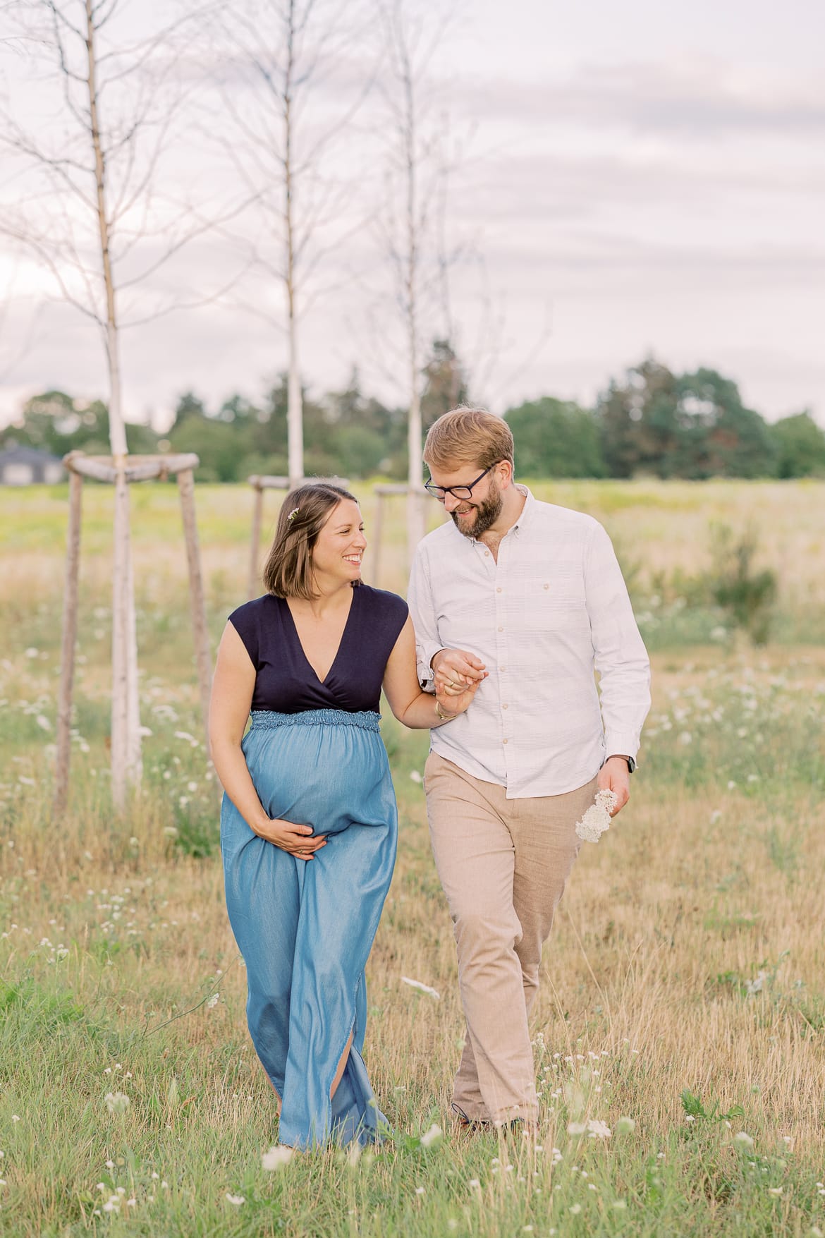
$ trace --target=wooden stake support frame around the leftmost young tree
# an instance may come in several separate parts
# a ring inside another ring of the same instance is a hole
[[[111,456],[85,456],[69,452],[63,463],[69,473],[69,522],[66,553],[66,589],[63,593],[63,629],[61,643],[61,683],[57,703],[57,763],[54,770],[54,817],[59,820],[68,805],[69,758],[72,747],[72,697],[74,688],[74,651],[78,631],[78,582],[80,573],[80,526],[83,504],[83,479],[105,482],[110,485],[130,485],[134,482],[165,480],[177,475],[183,517],[183,540],[187,552],[189,577],[189,612],[194,638],[200,711],[203,717],[207,751],[209,751],[209,693],[212,691],[212,654],[207,629],[207,608],[200,571],[198,526],[194,506],[194,469],[199,464],[192,453],[177,456],[129,456],[122,464],[115,464]],[[116,760],[113,743],[113,774]]]

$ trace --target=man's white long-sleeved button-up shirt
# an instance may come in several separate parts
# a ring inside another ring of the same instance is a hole
[[[408,593],[422,683],[439,649],[468,650],[489,671],[468,712],[432,732],[433,751],[511,800],[573,791],[605,756],[635,758],[651,704],[610,537],[592,516],[518,489],[524,509],[497,560],[448,520],[419,543]]]

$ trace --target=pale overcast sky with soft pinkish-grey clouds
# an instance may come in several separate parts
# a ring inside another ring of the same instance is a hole
[[[432,72],[455,132],[472,130],[449,218],[484,258],[451,282],[474,397],[496,411],[544,394],[591,401],[652,353],[721,370],[771,420],[809,407],[825,425],[823,46],[818,0],[465,5]],[[207,156],[190,158],[204,175]],[[367,390],[403,404],[395,337],[376,328],[375,255],[357,236],[344,250],[306,316],[304,379],[320,394],[357,361]],[[235,253],[202,239],[174,280],[220,282]],[[45,300],[31,259],[0,248],[0,420],[45,387],[105,397],[94,326]],[[260,395],[286,344],[237,300],[127,333],[130,418],[162,427],[189,387],[210,406]],[[276,290],[267,300],[280,312]]]

